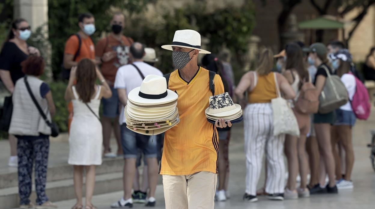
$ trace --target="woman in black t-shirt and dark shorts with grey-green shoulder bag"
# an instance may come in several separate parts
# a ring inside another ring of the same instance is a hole
[[[323,43],[314,43],[310,46],[310,54],[308,61],[310,64],[314,64],[317,67],[317,74],[315,75],[315,86],[317,91],[320,93],[323,91],[323,87],[327,79],[327,71],[332,73],[331,68],[327,65],[329,63],[327,58],[327,48]],[[326,188],[325,175],[324,178],[320,179],[320,184],[315,185],[311,188],[310,193],[338,193],[336,187],[335,178],[335,159],[332,154],[331,145],[331,125],[335,122],[335,113],[332,111],[327,114],[314,114],[314,126],[317,135],[320,158],[324,162],[324,168],[329,176],[329,184]],[[321,170],[324,171],[324,168]]]

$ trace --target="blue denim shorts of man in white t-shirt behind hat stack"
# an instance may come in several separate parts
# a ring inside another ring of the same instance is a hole
[[[153,137],[153,139],[152,139]],[[138,149],[145,158],[157,157],[156,136],[146,136],[127,129],[126,124],[121,125],[121,145],[124,158],[137,158]]]

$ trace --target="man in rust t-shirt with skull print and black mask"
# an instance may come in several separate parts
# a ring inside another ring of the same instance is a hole
[[[111,98],[102,99],[104,157],[116,157],[122,154],[120,124],[118,122],[120,101],[117,90],[114,89],[113,85],[117,69],[129,63],[129,47],[133,43],[131,38],[122,34],[125,26],[125,16],[122,13],[115,13],[113,15],[111,26],[112,32],[107,37],[99,40],[95,47],[95,58],[101,63],[102,74],[112,90]],[[112,119],[114,119],[113,129],[117,140],[117,154],[112,153],[110,148]]]

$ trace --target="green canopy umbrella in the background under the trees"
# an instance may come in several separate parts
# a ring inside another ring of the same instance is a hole
[[[339,29],[344,28],[344,22],[321,16],[316,19],[303,21],[298,24],[300,29]]]

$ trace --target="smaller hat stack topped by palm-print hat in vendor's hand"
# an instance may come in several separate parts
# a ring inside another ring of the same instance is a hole
[[[243,120],[241,106],[234,104],[228,92],[210,96],[209,102],[210,107],[205,110],[208,122],[214,124],[221,118],[231,123],[239,123]]]

